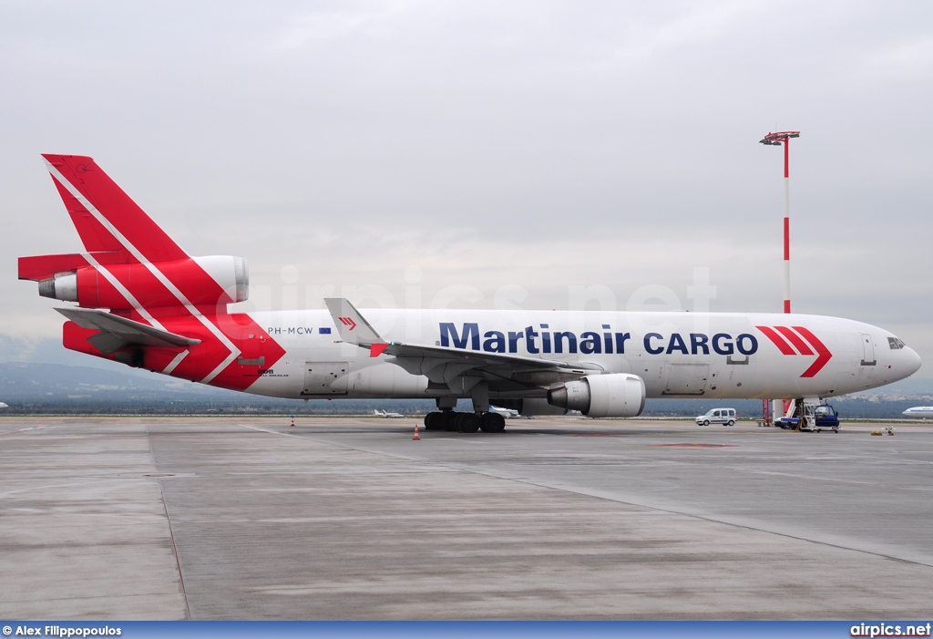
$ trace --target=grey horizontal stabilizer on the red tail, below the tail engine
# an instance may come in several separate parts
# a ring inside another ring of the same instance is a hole
[[[126,317],[97,309],[55,309],[81,328],[96,328],[101,332],[88,341],[101,353],[111,354],[129,346],[187,348],[201,340],[176,335],[153,326],[134,322]]]

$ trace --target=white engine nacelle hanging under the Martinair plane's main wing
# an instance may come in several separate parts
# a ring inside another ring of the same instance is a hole
[[[645,381],[628,373],[587,375],[550,390],[548,402],[590,417],[636,417],[645,410]]]

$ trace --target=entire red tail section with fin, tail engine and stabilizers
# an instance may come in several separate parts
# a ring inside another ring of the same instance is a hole
[[[44,157],[85,253],[20,257],[20,277],[86,309],[59,309],[65,347],[238,390],[285,354],[248,314],[228,313],[248,295],[243,258],[188,257],[94,160]]]

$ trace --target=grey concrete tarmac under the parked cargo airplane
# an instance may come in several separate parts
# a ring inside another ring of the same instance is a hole
[[[933,617],[933,428],[0,419],[0,618]]]

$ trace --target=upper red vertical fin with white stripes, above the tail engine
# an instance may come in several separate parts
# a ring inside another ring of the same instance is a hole
[[[87,251],[126,252],[131,262],[188,257],[93,159],[51,153],[42,157]]]

